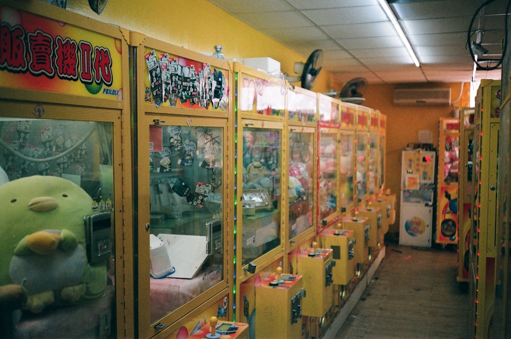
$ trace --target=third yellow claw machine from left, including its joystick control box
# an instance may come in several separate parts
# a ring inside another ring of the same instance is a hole
[[[236,320],[249,324],[251,338],[294,338],[303,325],[305,292],[301,276],[288,272],[284,254],[287,83],[240,63],[233,70]]]

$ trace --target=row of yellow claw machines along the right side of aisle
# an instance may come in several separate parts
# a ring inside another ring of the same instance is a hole
[[[475,107],[460,110],[457,281],[469,288],[469,338],[509,335],[506,105],[501,81],[485,79]]]

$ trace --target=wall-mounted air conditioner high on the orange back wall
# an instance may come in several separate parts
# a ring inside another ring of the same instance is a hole
[[[451,88],[396,88],[395,106],[449,106]]]

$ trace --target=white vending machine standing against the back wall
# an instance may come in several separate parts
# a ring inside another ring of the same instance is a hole
[[[399,244],[431,246],[436,151],[405,149],[401,165]]]

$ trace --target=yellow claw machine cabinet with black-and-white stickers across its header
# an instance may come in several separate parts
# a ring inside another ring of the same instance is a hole
[[[130,44],[136,336],[180,336],[211,309],[233,317],[233,76],[226,61],[140,33]]]

